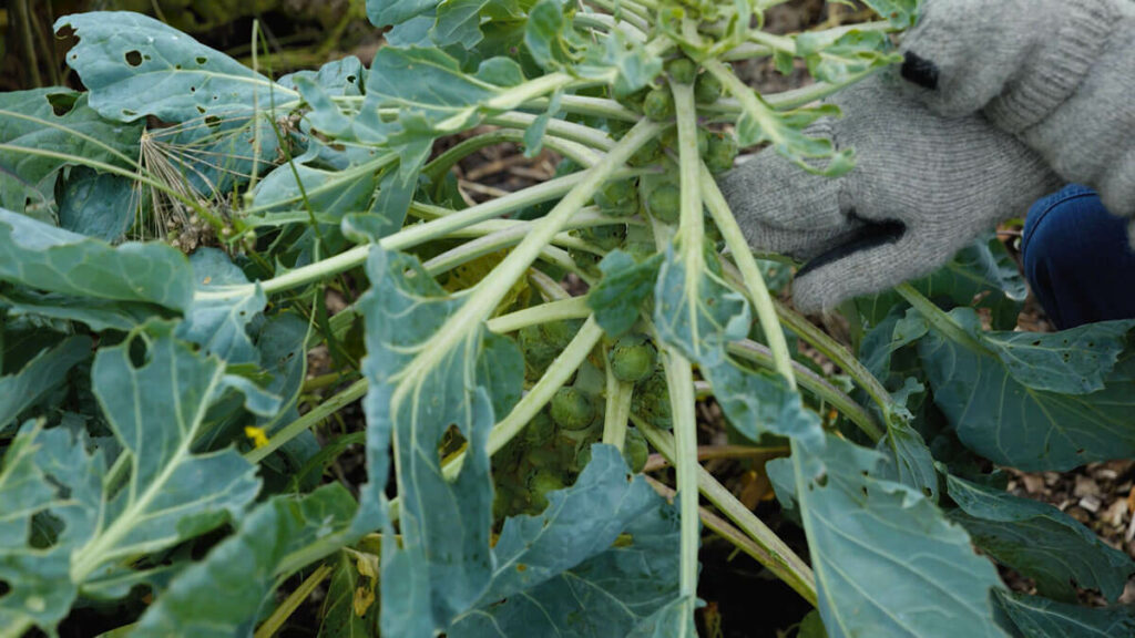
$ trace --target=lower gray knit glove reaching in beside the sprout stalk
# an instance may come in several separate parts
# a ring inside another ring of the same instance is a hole
[[[754,250],[808,262],[793,284],[805,312],[930,274],[1060,185],[1011,135],[980,116],[934,116],[899,83],[842,91],[844,117],[809,129],[856,149],[846,176],[810,175],[764,151],[718,181]]]

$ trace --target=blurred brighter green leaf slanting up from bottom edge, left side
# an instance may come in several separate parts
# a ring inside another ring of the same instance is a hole
[[[284,578],[343,543],[354,505],[338,484],[305,496],[272,497],[203,561],[178,574],[131,636],[250,635]]]

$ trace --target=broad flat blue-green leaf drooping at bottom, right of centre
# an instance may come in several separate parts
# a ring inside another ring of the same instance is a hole
[[[1003,637],[997,570],[920,492],[880,478],[884,457],[829,436],[770,462],[792,476],[819,610],[832,638]]]

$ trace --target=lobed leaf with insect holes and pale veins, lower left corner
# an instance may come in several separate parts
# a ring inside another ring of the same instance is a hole
[[[27,443],[9,447],[0,524],[18,532],[0,535],[0,580],[15,584],[15,594],[0,598],[0,626],[30,619],[51,630],[81,587],[125,596],[146,577],[141,556],[237,518],[259,492],[255,468],[236,451],[193,452],[209,408],[246,385],[173,330],[151,322],[95,355],[94,396],[121,445],[124,471],[114,479],[111,459],[87,452],[85,435],[75,438],[66,428],[27,425],[19,435]],[[32,518],[41,513],[58,522],[50,549],[30,544]]]

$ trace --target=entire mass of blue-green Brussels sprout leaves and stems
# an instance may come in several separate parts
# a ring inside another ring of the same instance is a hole
[[[991,238],[844,308],[858,360],[777,311],[712,174],[854,152],[725,60],[800,60],[812,103],[896,61],[917,2],[796,36],[756,31],[768,5],[369,0],[369,67],[278,79],[135,14],[61,18],[86,90],[0,95],[0,636],[111,605],[123,635],[250,635],[329,578],[320,636],[690,637],[698,489],[818,608],[802,636],[1130,633],[1067,603],[1130,561],[977,468],[1132,455],[1132,324],[1011,331]],[[453,167],[501,141],[571,159],[464,201]],[[791,451],[768,475],[812,569],[698,467],[709,395],[734,442]]]

